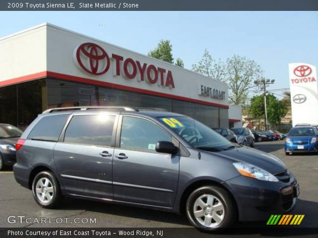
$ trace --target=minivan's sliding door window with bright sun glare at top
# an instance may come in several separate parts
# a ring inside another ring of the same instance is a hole
[[[106,114],[74,116],[65,130],[64,142],[110,146],[115,118]]]

